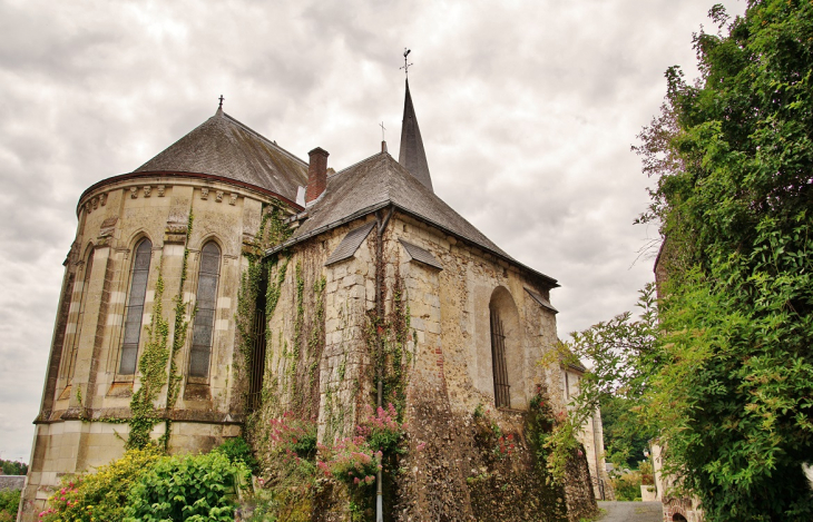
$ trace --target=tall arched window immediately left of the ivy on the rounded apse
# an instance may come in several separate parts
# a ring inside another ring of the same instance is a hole
[[[125,338],[121,344],[120,375],[136,373],[138,358],[138,339],[141,337],[141,319],[144,317],[144,299],[147,295],[147,278],[149,277],[149,262],[153,257],[153,243],[144,239],[136,247],[130,276],[130,298],[125,311]]]

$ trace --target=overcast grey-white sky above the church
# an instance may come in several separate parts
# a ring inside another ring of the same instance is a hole
[[[217,108],[336,170],[398,157],[404,47],[435,193],[559,280],[559,335],[652,280],[630,151],[713,0],[0,0],[0,457],[28,462],[62,260],[91,184]],[[744,2],[724,2],[742,13]]]

